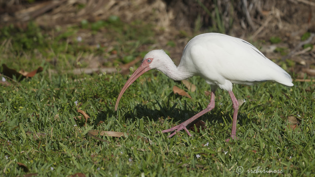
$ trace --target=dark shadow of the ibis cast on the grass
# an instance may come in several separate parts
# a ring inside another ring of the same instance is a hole
[[[172,118],[173,125],[175,122],[180,121],[179,123],[182,123],[189,119],[190,117],[196,115],[198,112],[202,111],[204,108],[202,108],[201,104],[198,103],[198,111],[192,111],[192,109],[188,108],[187,103],[185,101],[184,106],[182,108],[176,108],[177,103],[174,105],[170,105],[169,100],[167,103],[162,102],[160,104],[156,100],[157,105],[159,106],[158,108],[149,108],[148,106],[144,104],[137,104],[132,110],[129,111],[124,111],[124,109],[121,109],[120,111],[122,112],[122,117],[124,120],[124,123],[127,123],[129,120],[130,122],[135,121],[136,119],[141,119],[143,117],[148,117],[150,120],[153,120],[155,122],[159,122],[160,118],[163,118],[164,121],[171,123]],[[97,125],[100,121],[106,121],[106,117],[116,117],[117,116],[117,111],[114,111],[112,106],[109,107],[106,105],[107,111],[101,111],[99,115],[97,116],[97,119],[94,122],[94,125]],[[233,114],[233,109],[229,111],[223,111],[220,106],[215,106],[215,108],[206,114],[202,115],[201,117],[197,118],[195,121],[190,123],[187,127],[192,126],[195,124],[197,121],[201,120],[203,122],[206,122],[208,120],[209,122],[209,127],[215,126],[217,123],[224,123],[223,118],[226,120],[227,124],[224,125],[224,127],[229,126],[232,127],[232,114]],[[176,123],[178,125],[179,123]],[[243,114],[242,112],[238,112],[238,124],[241,126],[243,124],[249,124],[252,123],[249,118],[246,116],[246,114]],[[172,125],[170,125],[168,128],[171,128]],[[209,128],[208,127],[208,128]],[[165,127],[166,129],[167,127]],[[227,133],[230,133],[230,129],[228,128]]]

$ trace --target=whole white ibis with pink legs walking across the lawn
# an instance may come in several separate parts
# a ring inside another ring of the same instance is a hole
[[[186,126],[215,107],[215,90],[218,87],[227,90],[232,99],[234,112],[231,138],[236,139],[238,100],[232,92],[233,83],[253,85],[264,81],[274,81],[285,86],[293,86],[290,75],[266,58],[252,44],[225,34],[205,33],[192,38],[187,43],[178,66],[175,66],[163,50],[152,50],[147,53],[139,68],[130,76],[120,91],[115,105],[116,111],[118,102],[126,89],[139,76],[151,69],[162,71],[175,81],[201,76],[211,85],[210,103],[207,108],[185,122],[163,130],[163,133],[174,131],[169,137],[182,129],[192,136]]]

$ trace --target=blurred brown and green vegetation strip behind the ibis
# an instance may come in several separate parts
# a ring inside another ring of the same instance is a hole
[[[296,78],[315,76],[309,0],[0,0],[1,64],[17,70],[123,73],[152,49],[179,63],[205,32],[253,43]],[[82,68],[85,68],[82,70]]]

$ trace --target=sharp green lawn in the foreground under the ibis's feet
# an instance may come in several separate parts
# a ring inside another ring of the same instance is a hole
[[[55,75],[50,80],[43,73],[20,84],[0,86],[1,175],[235,176],[237,167],[242,166],[242,175],[248,176],[256,176],[246,170],[257,167],[283,170],[284,176],[314,176],[315,94],[306,91],[313,83],[295,82],[292,88],[276,83],[235,85],[236,97],[246,102],[239,109],[239,139],[226,143],[232,122],[227,92],[218,90],[215,109],[200,117],[206,129],[190,131],[192,137],[181,131],[167,138],[168,134],[156,132],[204,109],[209,103],[204,94],[209,85],[199,77],[190,78],[198,86],[192,93],[163,74],[151,72],[128,88],[115,112],[114,104],[125,81],[120,74]],[[193,99],[174,94],[174,85]],[[84,121],[73,119],[80,116],[76,100],[90,116],[86,127]],[[302,118],[295,130],[287,128],[288,115]],[[104,123],[97,125],[100,120]],[[130,135],[98,136],[110,142],[106,143],[89,137],[92,129]],[[46,136],[37,139],[27,131]],[[207,142],[209,146],[204,146]],[[25,164],[28,172],[17,162]]]

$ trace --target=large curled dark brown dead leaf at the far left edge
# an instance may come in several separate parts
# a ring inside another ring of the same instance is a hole
[[[31,71],[31,72],[26,72],[24,70],[21,70],[19,72],[17,72],[15,69],[11,69],[9,68],[6,64],[2,64],[2,68],[3,68],[3,74],[13,78],[13,76],[15,76],[16,78],[28,78],[28,77],[33,77],[35,76],[36,73],[38,72],[42,72],[43,71],[43,67],[39,66],[36,70]]]

